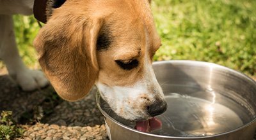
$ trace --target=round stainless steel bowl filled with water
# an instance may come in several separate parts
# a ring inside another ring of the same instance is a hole
[[[255,81],[208,62],[170,60],[154,62],[153,67],[168,102],[166,112],[157,116],[162,129],[150,133],[133,129],[134,123],[104,110],[106,104],[98,94],[111,139],[253,139]]]

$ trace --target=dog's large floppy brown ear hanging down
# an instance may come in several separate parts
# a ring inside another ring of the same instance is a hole
[[[34,45],[45,75],[67,101],[88,94],[98,76],[96,43],[102,22],[75,15],[51,17]]]

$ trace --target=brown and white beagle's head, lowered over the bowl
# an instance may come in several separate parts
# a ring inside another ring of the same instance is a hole
[[[52,10],[34,45],[56,92],[67,101],[96,83],[115,113],[142,120],[166,109],[152,69],[161,46],[147,0],[66,1]]]

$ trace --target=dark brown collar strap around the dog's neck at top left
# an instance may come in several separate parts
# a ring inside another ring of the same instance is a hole
[[[46,18],[46,3],[47,0],[35,0],[34,1],[34,16],[36,20],[39,20],[40,22],[43,22],[46,24],[47,18]]]

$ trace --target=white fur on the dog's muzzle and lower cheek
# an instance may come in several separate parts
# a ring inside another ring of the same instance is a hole
[[[152,93],[152,91],[147,89],[149,86],[156,88],[159,86],[157,84],[148,85],[148,82],[145,80],[138,81],[132,87],[108,87],[100,82],[97,82],[96,85],[103,99],[109,103],[110,108],[115,111],[117,115],[127,120],[140,120],[150,117],[147,114],[147,110],[142,108],[145,102],[148,101],[141,99],[141,96],[146,95],[149,102],[154,102],[156,93]],[[157,92],[157,94],[164,100],[163,91],[161,88],[158,88],[158,90],[159,92]]]

